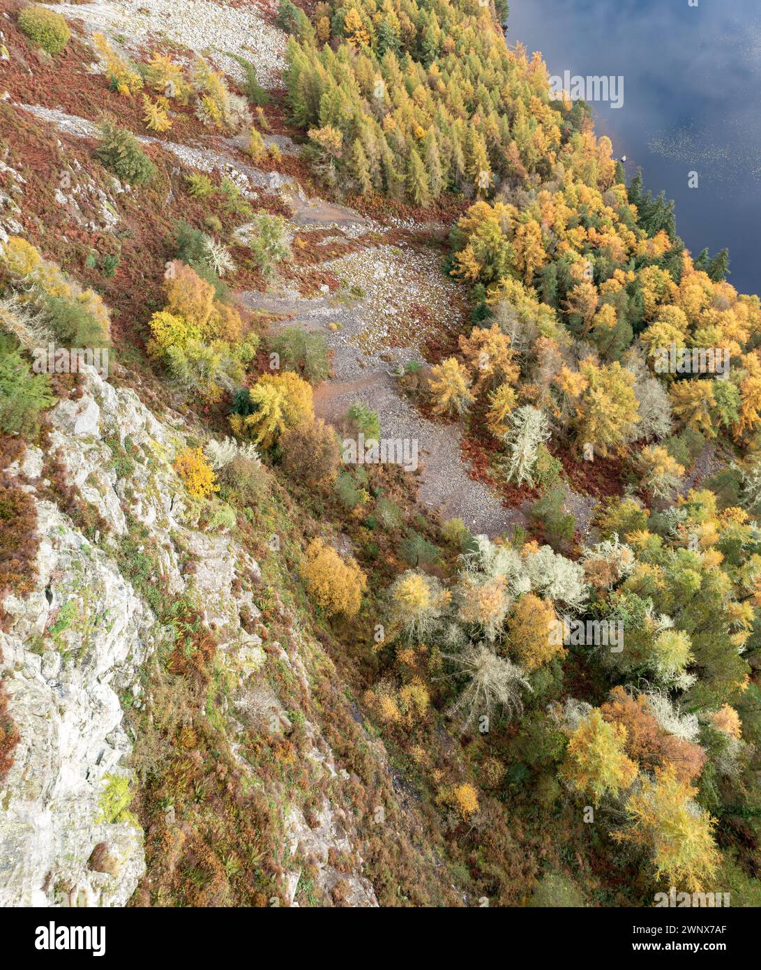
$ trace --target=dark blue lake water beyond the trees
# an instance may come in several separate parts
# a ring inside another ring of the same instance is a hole
[[[591,105],[598,134],[676,200],[693,256],[729,246],[729,281],[761,293],[761,0],[510,0],[507,40],[551,75],[622,76],[618,110]]]

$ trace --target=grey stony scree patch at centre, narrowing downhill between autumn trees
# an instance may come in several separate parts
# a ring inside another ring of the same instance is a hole
[[[289,318],[276,327],[300,325],[319,332],[333,349],[335,376],[315,390],[318,417],[336,423],[352,404],[363,403],[378,412],[382,436],[417,441],[423,469],[420,501],[438,509],[444,519],[460,518],[471,532],[492,538],[522,521],[519,510],[503,507],[488,486],[468,476],[460,458],[460,426],[428,421],[399,393],[391,375],[397,365],[423,360],[418,344],[426,335],[414,326],[417,303],[436,311],[439,326],[455,319],[454,284],[441,274],[438,255],[378,246],[324,266],[345,276],[347,290],[359,286],[363,295],[347,301],[340,291],[337,300],[331,295],[304,299],[276,287],[266,294],[240,294],[247,307]],[[390,339],[402,338],[404,346],[389,345]]]

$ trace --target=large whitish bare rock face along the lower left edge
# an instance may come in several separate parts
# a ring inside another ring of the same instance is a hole
[[[143,874],[143,836],[110,817],[108,794],[129,781],[119,695],[151,649],[154,620],[55,505],[38,502],[37,515],[37,585],[6,599],[12,626],[0,633],[20,735],[0,789],[0,905],[123,906]],[[99,844],[107,870],[88,865]]]

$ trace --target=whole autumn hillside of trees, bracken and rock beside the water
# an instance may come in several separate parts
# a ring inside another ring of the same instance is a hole
[[[757,905],[758,298],[501,5],[0,12],[0,905]]]

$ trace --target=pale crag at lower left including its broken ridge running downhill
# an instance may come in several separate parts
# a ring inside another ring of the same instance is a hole
[[[181,419],[154,415],[133,390],[114,388],[92,369],[83,373],[82,391],[51,411],[50,452],[103,530],[88,539],[50,501],[38,449],[6,469],[36,501],[39,549],[33,591],[3,603],[10,624],[0,633],[0,676],[20,735],[0,783],[3,906],[123,906],[143,876],[143,832],[126,807],[137,784],[129,768],[135,739],[123,727],[121,701],[145,701],[145,663],[169,634],[128,578],[125,550],[136,535],[138,549],[152,554],[151,581],[197,603],[221,663],[237,678],[233,703],[222,712],[234,752],[246,731],[292,729],[268,664],[287,666],[309,695],[309,663],[321,650],[301,636],[296,617],[287,651],[277,643],[265,650],[243,629],[241,612],[248,630],[260,617],[261,572],[227,530],[198,527],[198,509],[173,469],[190,433]],[[319,726],[306,720],[304,731],[315,783],[346,782]],[[252,784],[262,784],[253,773]],[[294,904],[306,861],[328,898],[377,905],[362,875],[351,808],[326,799],[307,824],[291,792],[269,794],[294,860],[282,876],[280,904]],[[339,858],[352,861],[339,870]]]

